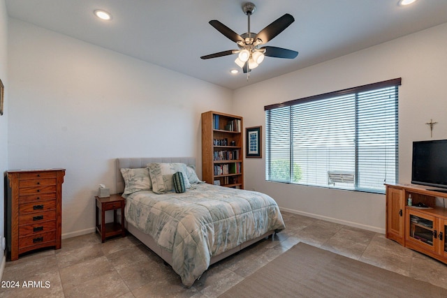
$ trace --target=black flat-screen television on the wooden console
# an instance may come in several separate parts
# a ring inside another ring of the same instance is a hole
[[[411,183],[447,188],[447,140],[413,142]]]

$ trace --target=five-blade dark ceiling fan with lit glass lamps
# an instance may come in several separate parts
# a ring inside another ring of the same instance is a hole
[[[272,40],[279,33],[284,31],[290,24],[295,22],[292,15],[286,13],[282,17],[269,24],[267,27],[259,31],[259,33],[250,32],[250,15],[254,13],[256,6],[254,3],[248,2],[244,3],[242,6],[242,11],[248,16],[248,32],[242,35],[237,34],[235,31],[226,27],[224,24],[218,20],[211,20],[210,24],[212,27],[217,29],[224,36],[233,40],[239,50],[227,50],[223,52],[217,52],[214,54],[209,54],[200,57],[201,59],[211,59],[217,57],[223,57],[230,54],[238,54],[235,63],[244,70],[244,73],[248,73],[251,69],[256,68],[264,60],[265,56],[276,57],[276,58],[286,58],[294,59],[298,56],[298,52],[293,50],[287,50],[282,47],[271,47],[264,46],[265,43]]]

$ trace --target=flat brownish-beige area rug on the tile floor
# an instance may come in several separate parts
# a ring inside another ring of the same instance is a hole
[[[447,290],[299,243],[220,297],[447,297]]]

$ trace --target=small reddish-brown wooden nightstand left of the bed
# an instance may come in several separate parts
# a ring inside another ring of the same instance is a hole
[[[121,195],[110,195],[110,197],[96,199],[96,231],[101,235],[101,242],[105,238],[121,234],[126,236],[124,229],[124,204],[126,200]],[[121,222],[118,222],[117,209],[121,209]],[[105,223],[105,211],[113,210],[113,222]],[[101,223],[99,222],[99,212],[101,211]]]

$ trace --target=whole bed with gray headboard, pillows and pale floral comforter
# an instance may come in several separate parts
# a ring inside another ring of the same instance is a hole
[[[195,165],[190,157],[117,158],[115,172],[117,193],[126,197],[126,229],[173,267],[186,287],[215,262],[285,228],[270,196],[205,184]],[[182,172],[184,193],[164,185],[169,171]]]

